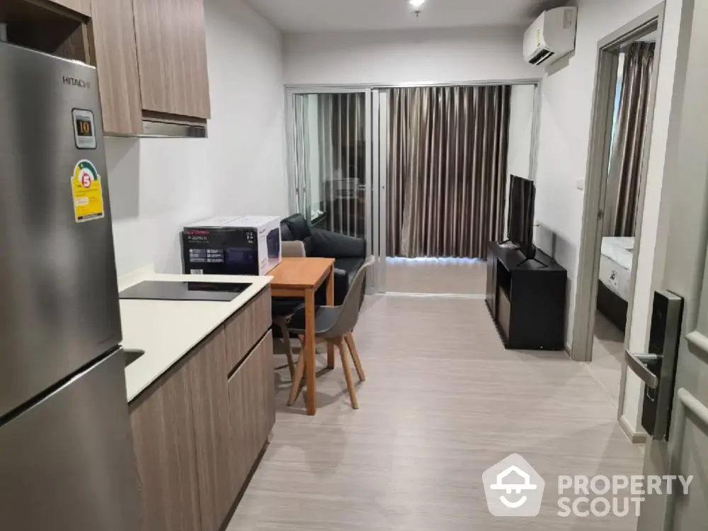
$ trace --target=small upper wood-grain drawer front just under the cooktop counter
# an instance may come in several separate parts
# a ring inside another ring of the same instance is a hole
[[[244,359],[259,338],[270,327],[270,287],[263,290],[244,309],[232,316],[226,324],[226,352],[228,372]]]

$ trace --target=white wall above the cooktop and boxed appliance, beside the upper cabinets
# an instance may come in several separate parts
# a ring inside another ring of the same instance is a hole
[[[285,215],[280,33],[241,0],[206,0],[207,139],[106,138],[118,274],[181,272],[178,232],[210,215]]]

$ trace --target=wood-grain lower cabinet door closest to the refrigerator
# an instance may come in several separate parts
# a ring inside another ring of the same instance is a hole
[[[131,404],[142,531],[200,530],[193,415],[182,367]]]

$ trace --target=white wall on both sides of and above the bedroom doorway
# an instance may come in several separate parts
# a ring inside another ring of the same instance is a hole
[[[653,8],[657,3],[656,0],[580,0],[576,51],[568,59],[561,59],[560,64],[553,65],[550,73],[544,76],[536,214],[539,222],[556,236],[555,258],[568,269],[569,342],[572,337],[583,215],[583,191],[576,188],[576,181],[586,178],[598,41]],[[637,297],[634,300],[630,344],[634,346],[641,344],[642,347],[646,340],[653,262],[655,256],[661,254],[661,247],[658,248],[659,251],[655,251],[654,246],[678,46],[680,5],[681,0],[666,1],[642,244],[639,250],[639,261],[636,264]],[[547,247],[547,239],[544,241],[545,245],[539,241],[539,246]],[[632,392],[635,391],[636,389]],[[627,398],[629,402],[638,399],[638,396]],[[628,420],[636,427],[636,411],[633,415],[635,418]]]

